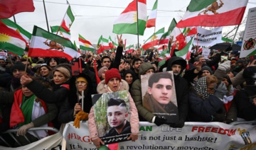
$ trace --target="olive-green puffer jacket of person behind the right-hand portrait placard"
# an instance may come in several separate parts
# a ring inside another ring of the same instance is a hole
[[[134,103],[137,107],[139,113],[139,120],[140,121],[148,121],[152,122],[153,117],[155,116],[149,110],[143,107],[142,105],[142,84],[140,81],[140,76],[146,74],[146,71],[149,69],[154,69],[153,65],[145,62],[139,67],[139,79],[134,81],[132,84],[132,98],[134,99]]]

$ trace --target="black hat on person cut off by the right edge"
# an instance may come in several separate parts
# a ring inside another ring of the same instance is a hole
[[[247,67],[243,71],[242,77],[247,85],[256,86],[256,67]]]

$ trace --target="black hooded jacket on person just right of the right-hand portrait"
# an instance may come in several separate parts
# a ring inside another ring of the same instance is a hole
[[[176,89],[176,99],[178,103],[178,117],[176,124],[171,124],[171,127],[183,127],[188,115],[188,81],[181,77],[184,69],[186,69],[186,61],[181,57],[171,57],[168,62],[166,71],[171,71],[171,66],[174,62],[180,61],[181,71],[178,75],[174,75],[174,83]]]

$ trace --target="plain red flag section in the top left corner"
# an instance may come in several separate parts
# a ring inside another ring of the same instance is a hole
[[[1,0],[0,1],[0,19],[10,18],[16,13],[21,12],[33,12],[35,7],[33,6],[33,0]]]

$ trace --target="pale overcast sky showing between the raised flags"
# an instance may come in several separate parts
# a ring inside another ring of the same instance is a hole
[[[78,44],[78,33],[85,37],[86,40],[97,43],[100,35],[108,38],[112,37],[115,40],[116,35],[112,33],[114,20],[119,16],[124,8],[132,0],[70,0],[71,9],[75,16],[75,21],[71,26],[71,40]],[[46,0],[46,13],[48,17],[48,23],[50,25],[60,25],[65,11],[68,8],[66,0]],[[146,5],[148,14],[154,5],[155,0],[147,0]],[[165,30],[169,28],[173,18],[176,21],[180,21],[183,14],[186,12],[190,0],[159,0],[158,11],[156,17],[156,31],[165,27]],[[21,25],[25,30],[32,33],[33,25],[37,25],[47,30],[46,16],[43,9],[43,0],[33,0],[36,10],[31,13],[18,13],[15,15],[16,23]],[[256,7],[256,0],[250,0],[247,4],[245,16],[247,16],[247,10],[249,8]],[[14,21],[13,17],[10,18]],[[50,28],[50,27],[49,27]],[[228,26],[223,28],[223,32],[232,30],[234,26]],[[239,30],[244,30],[245,25],[240,25]],[[139,36],[139,42],[143,43],[154,33],[154,28],[146,28],[144,36]],[[234,32],[235,33],[235,32]],[[127,45],[137,44],[137,35],[123,35],[123,39],[127,39]]]

